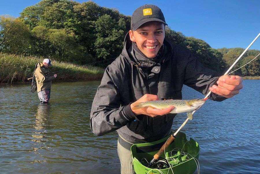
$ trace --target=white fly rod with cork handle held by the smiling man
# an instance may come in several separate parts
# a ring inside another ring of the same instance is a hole
[[[237,60],[233,63],[233,65],[231,65],[231,67],[227,70],[227,72],[224,74],[228,74],[229,71],[235,66],[235,64],[237,63],[237,61],[239,61],[239,59],[246,53],[246,51],[249,49],[249,47],[257,40],[257,38],[260,36],[260,33],[256,36],[256,38],[250,43],[250,45],[248,45],[248,47],[244,50],[244,52],[237,58]],[[237,69],[236,69],[237,70]],[[209,91],[209,93],[205,96],[204,100],[207,100],[209,94],[211,93],[211,91]],[[194,114],[194,112],[196,110],[198,110],[201,106],[199,106],[197,109],[195,109],[192,114]],[[187,118],[183,124],[181,125],[181,127],[179,127],[179,129],[173,133],[172,135],[170,135],[170,137],[168,138],[168,140],[166,140],[166,142],[164,143],[164,145],[161,147],[161,149],[153,156],[153,159],[151,160],[151,162],[148,163],[148,167],[150,168],[153,164],[155,164],[157,162],[157,160],[159,159],[159,157],[161,156],[161,154],[165,151],[165,149],[167,149],[167,147],[172,143],[172,141],[176,138],[177,133],[184,127],[184,125],[187,123],[187,121],[189,120],[189,118]],[[165,166],[168,166],[168,163],[165,162]]]

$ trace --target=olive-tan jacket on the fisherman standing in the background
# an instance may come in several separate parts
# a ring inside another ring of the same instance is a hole
[[[38,63],[34,76],[37,83],[37,92],[51,89],[51,80],[55,79],[55,77],[51,75],[49,69],[45,68],[42,63]]]

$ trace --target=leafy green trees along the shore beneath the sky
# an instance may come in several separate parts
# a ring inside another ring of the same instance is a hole
[[[0,52],[81,65],[99,61],[96,65],[107,66],[122,52],[130,21],[130,16],[98,6],[93,1],[42,0],[25,8],[16,19],[0,17]],[[165,35],[220,74],[244,51],[242,48],[214,49],[205,41],[186,37],[168,26]],[[259,52],[249,50],[237,66],[247,63]],[[260,76],[259,64],[256,59],[235,74]]]

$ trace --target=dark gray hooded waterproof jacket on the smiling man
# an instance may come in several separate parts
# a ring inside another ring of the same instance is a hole
[[[183,85],[206,95],[218,75],[203,67],[188,50],[166,39],[159,61],[145,58],[132,45],[127,34],[122,54],[105,69],[92,103],[90,126],[98,136],[116,130],[123,139],[135,144],[169,135],[176,114],[135,116],[130,109],[132,102],[144,94],[155,94],[161,100],[182,99]],[[226,99],[212,93],[209,98]]]

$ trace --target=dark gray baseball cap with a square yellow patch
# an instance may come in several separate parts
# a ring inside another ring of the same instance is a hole
[[[141,25],[150,21],[159,21],[168,25],[165,22],[164,14],[161,9],[152,4],[145,4],[138,7],[132,14],[131,17],[131,30],[137,30]]]

